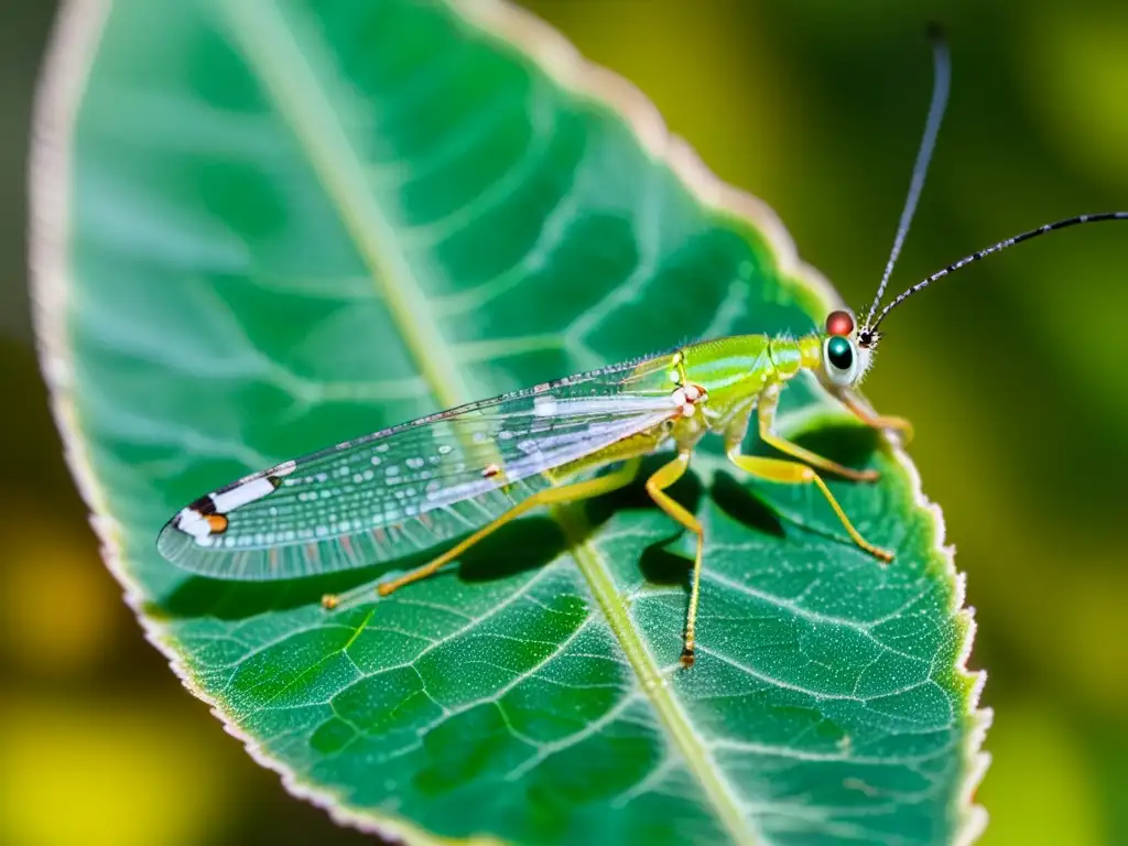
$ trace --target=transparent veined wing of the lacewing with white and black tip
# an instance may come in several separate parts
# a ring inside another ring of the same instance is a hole
[[[158,549],[185,570],[238,580],[428,549],[490,523],[570,464],[675,418],[671,361],[545,382],[285,461],[182,509]]]

